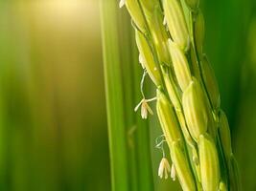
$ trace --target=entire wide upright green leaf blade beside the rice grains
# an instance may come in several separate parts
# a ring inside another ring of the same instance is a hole
[[[115,0],[102,0],[101,14],[112,190],[151,191],[149,126],[134,113],[143,71],[130,19]]]

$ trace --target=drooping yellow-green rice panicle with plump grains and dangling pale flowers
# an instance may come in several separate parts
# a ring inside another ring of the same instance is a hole
[[[198,0],[122,0],[123,5],[132,18],[145,71],[138,105],[143,118],[152,113],[149,102],[157,100],[164,134],[157,143],[163,150],[159,176],[171,172],[175,180],[176,174],[183,190],[240,190],[217,81],[202,50],[204,19]],[[146,74],[155,84],[155,98],[144,94]],[[164,154],[165,142],[172,168]]]

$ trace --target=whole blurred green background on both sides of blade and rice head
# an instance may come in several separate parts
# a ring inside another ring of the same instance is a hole
[[[245,191],[256,190],[255,4],[201,1]],[[0,1],[0,190],[110,190],[100,26],[99,0]],[[168,190],[159,131],[154,186]]]

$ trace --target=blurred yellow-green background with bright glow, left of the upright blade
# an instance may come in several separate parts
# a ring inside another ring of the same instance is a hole
[[[0,4],[0,190],[108,190],[98,4]]]

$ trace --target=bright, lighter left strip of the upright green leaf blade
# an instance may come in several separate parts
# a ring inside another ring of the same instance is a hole
[[[128,149],[126,142],[122,78],[117,29],[117,7],[114,0],[101,1],[103,31],[105,96],[112,190],[128,189]]]

